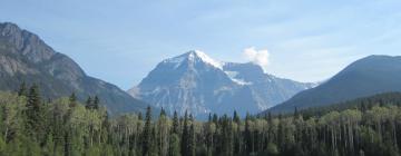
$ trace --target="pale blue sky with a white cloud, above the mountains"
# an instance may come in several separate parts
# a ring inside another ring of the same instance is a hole
[[[0,0],[0,22],[128,89],[193,49],[323,81],[360,58],[400,56],[400,0]]]

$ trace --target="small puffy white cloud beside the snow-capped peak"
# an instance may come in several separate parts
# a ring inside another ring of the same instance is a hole
[[[255,47],[250,47],[244,49],[245,58],[256,65],[260,65],[264,70],[266,70],[270,61],[270,53],[267,49],[256,50]]]

